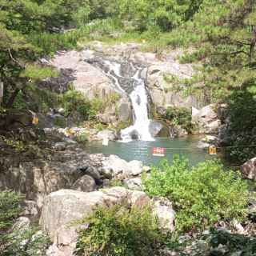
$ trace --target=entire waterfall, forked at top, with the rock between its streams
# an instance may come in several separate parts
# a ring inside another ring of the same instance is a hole
[[[101,63],[102,70],[114,81],[115,86],[129,94],[134,109],[134,125],[121,130],[122,142],[130,142],[134,138],[142,141],[154,141],[150,134],[146,86],[144,80],[140,78],[142,68],[135,67],[132,63],[128,63],[128,65],[133,73],[130,78],[122,76],[121,63],[110,60],[104,60]]]

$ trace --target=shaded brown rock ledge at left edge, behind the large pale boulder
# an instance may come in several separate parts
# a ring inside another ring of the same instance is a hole
[[[74,154],[75,153],[75,154]],[[0,172],[0,190],[15,190],[26,195],[27,200],[36,202],[38,210],[47,194],[61,189],[70,189],[74,182],[85,174],[83,166],[90,168],[101,165],[101,160],[90,157],[84,151],[56,151],[52,161],[18,162],[4,158],[4,171]],[[98,158],[102,158],[100,155]],[[1,159],[0,159],[1,161]],[[94,166],[95,165],[95,166]],[[97,170],[97,168],[96,168]],[[95,173],[94,173],[95,174]],[[90,173],[90,176],[93,174]],[[100,179],[100,174],[93,178]]]

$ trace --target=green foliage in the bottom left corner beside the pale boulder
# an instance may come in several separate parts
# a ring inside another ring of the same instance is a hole
[[[0,192],[0,247],[2,256],[44,256],[48,238],[34,228],[14,228],[22,213],[23,196],[11,191]]]

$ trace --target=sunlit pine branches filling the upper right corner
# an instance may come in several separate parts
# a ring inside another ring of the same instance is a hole
[[[230,91],[255,79],[256,3],[204,0],[193,20],[172,31],[170,44],[193,46],[182,62],[202,62],[194,86],[222,100]]]

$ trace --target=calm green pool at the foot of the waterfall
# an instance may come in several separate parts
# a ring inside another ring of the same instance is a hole
[[[166,148],[166,158],[168,158],[170,162],[172,162],[174,154],[186,156],[191,165],[195,165],[206,159],[216,158],[215,156],[207,154],[205,150],[198,149],[198,140],[198,136],[190,136],[186,138],[157,138],[154,142],[109,142],[108,146],[102,146],[102,142],[89,142],[86,145],[86,151],[90,154],[116,154],[126,161],[140,160],[146,166],[149,166],[150,164],[158,165],[162,160],[162,157],[155,157],[152,155],[154,147]]]

